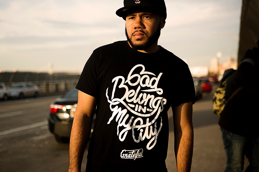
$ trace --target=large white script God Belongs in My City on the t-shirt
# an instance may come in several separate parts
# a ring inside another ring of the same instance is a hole
[[[140,72],[137,73],[136,71]],[[118,122],[117,135],[121,142],[125,140],[128,131],[131,130],[132,133],[130,133],[136,143],[147,139],[149,141],[146,146],[147,150],[155,146],[157,136],[162,128],[162,118],[159,114],[163,111],[163,106],[167,102],[163,97],[159,97],[162,95],[163,90],[157,88],[162,74],[160,73],[156,76],[151,72],[146,72],[145,67],[139,64],[131,69],[126,81],[123,76],[113,78],[112,83],[114,85],[111,97],[108,96],[109,88],[106,90],[106,97],[112,111],[112,116],[107,124],[110,124],[116,117],[115,120]],[[136,88],[137,86],[136,90],[130,90],[131,87]],[[116,90],[121,88],[125,89],[124,96],[114,97]],[[130,114],[135,114],[137,117],[130,116]],[[146,119],[146,121],[143,119]],[[156,127],[157,122],[160,123],[158,130]],[[121,128],[123,129],[121,130]]]

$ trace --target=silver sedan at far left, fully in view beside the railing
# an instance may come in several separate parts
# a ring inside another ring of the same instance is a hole
[[[16,84],[8,89],[8,97],[23,99],[24,97],[38,97],[39,89],[34,84]]]

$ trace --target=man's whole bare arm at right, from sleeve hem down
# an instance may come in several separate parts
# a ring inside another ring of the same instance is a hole
[[[192,102],[172,108],[177,172],[191,170],[193,153]]]

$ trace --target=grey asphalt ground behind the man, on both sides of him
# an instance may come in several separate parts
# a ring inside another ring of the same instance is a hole
[[[49,104],[58,96],[0,101],[0,172],[68,171],[69,144],[57,143],[49,132]],[[168,171],[176,171],[173,150],[172,111],[169,117]],[[225,153],[220,136],[218,116],[212,113],[212,92],[193,106],[194,172],[219,172],[225,168]],[[85,171],[87,150],[82,163]],[[247,166],[247,161],[245,163]]]

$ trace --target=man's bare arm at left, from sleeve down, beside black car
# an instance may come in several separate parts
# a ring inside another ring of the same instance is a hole
[[[78,103],[70,136],[69,171],[81,171],[82,159],[91,134],[97,99],[78,91]]]

